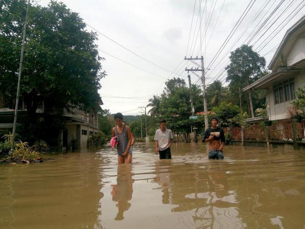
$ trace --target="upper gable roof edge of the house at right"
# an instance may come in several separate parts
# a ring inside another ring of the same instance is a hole
[[[280,62],[280,58],[279,58],[280,55],[282,53],[285,55],[286,52],[292,48],[293,44],[299,38],[299,35],[304,32],[305,32],[305,15],[287,30],[270,64],[268,65],[268,69],[273,70],[275,67],[279,65],[278,63]]]

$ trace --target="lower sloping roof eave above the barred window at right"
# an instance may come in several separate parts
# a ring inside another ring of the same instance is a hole
[[[291,76],[299,72],[300,69],[298,68],[291,68],[291,67],[278,68],[276,71],[269,73],[268,75],[260,78],[259,80],[255,81],[249,86],[243,88],[243,91],[246,92],[251,89],[252,90],[267,89],[270,86],[270,84],[274,84],[274,83],[276,84],[277,81],[291,78]]]

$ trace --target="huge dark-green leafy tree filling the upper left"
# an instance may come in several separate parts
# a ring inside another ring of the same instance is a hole
[[[26,8],[26,0],[0,3],[0,91],[12,101],[16,97]],[[100,109],[97,91],[101,88],[99,80],[106,74],[96,39],[96,33],[87,32],[79,15],[63,3],[30,5],[20,88],[30,117],[28,128],[34,128],[41,119],[36,110],[42,102],[45,115],[62,116],[64,109],[72,108]],[[14,108],[13,103],[10,108]],[[57,120],[63,121],[50,118],[51,122],[44,120],[42,126],[50,127]]]

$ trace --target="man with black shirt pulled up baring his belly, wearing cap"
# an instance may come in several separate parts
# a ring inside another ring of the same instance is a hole
[[[211,118],[211,127],[204,133],[204,141],[209,142],[209,159],[223,159],[224,132],[217,127],[218,119]]]

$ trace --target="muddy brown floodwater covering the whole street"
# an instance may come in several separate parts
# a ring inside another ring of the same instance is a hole
[[[305,229],[305,152],[174,143],[133,164],[109,145],[0,166],[0,229]]]

